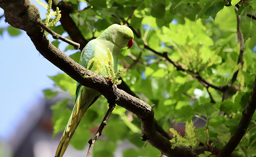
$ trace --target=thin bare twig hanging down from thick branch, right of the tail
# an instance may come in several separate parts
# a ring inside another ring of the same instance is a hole
[[[98,137],[100,137],[101,133],[102,133],[102,130],[103,128],[107,125],[107,121],[108,121],[108,118],[109,116],[111,115],[112,111],[115,109],[115,103],[109,103],[109,109],[104,117],[104,119],[102,120],[101,124],[100,124],[100,127],[98,128],[95,136],[93,137],[93,139],[90,139],[88,141],[88,143],[90,144],[89,146],[89,150],[87,152],[87,155],[86,157],[91,157],[91,154],[93,153],[93,146],[95,144],[95,142],[97,141]]]

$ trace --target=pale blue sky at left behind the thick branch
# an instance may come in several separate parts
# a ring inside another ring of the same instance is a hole
[[[46,9],[30,0],[39,8],[42,19]],[[44,2],[43,0],[41,0]],[[0,16],[4,11],[0,8]],[[0,19],[0,28],[8,27]],[[53,41],[48,35],[50,41]],[[61,42],[63,51],[67,46]],[[67,52],[69,55],[76,51]],[[35,49],[24,31],[19,36],[11,37],[7,31],[0,36],[0,141],[7,141],[17,131],[20,122],[33,107],[44,99],[43,89],[51,88],[54,82],[48,76],[62,72]]]

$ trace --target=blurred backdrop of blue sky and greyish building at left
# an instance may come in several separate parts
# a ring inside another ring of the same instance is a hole
[[[46,9],[35,0],[30,1],[45,18]],[[52,139],[50,106],[64,96],[46,100],[43,90],[54,87],[48,76],[62,71],[40,55],[24,31],[14,32],[3,15],[0,8],[0,156],[52,157],[61,135]],[[66,46],[62,42],[60,49]],[[68,55],[72,53],[75,51],[67,51]],[[85,151],[72,150],[69,146],[66,155],[85,154]],[[44,152],[43,155],[40,152]]]

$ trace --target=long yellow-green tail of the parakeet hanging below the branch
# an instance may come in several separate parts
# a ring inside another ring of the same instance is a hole
[[[76,131],[78,124],[80,123],[83,115],[85,114],[87,108],[81,108],[81,99],[82,99],[82,91],[80,95],[76,99],[76,103],[74,109],[70,115],[69,122],[63,132],[61,140],[59,142],[59,146],[56,150],[55,157],[62,157],[67,147],[69,146],[70,140]]]

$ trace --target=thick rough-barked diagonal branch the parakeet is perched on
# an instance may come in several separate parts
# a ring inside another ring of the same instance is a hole
[[[171,142],[156,131],[154,111],[147,103],[115,88],[109,80],[102,76],[83,78],[85,68],[54,47],[41,27],[37,26],[40,15],[35,5],[28,0],[0,0],[0,7],[5,11],[6,21],[12,26],[26,31],[36,49],[47,60],[83,86],[99,91],[106,99],[114,100],[113,103],[135,113],[141,119],[143,137],[147,138],[150,144],[161,153],[169,157],[197,157],[191,148],[186,146],[171,149]],[[93,72],[87,70],[86,75],[91,76]]]

